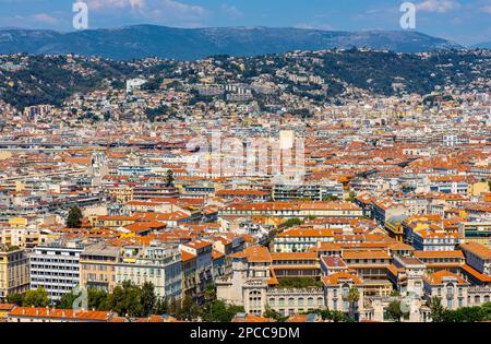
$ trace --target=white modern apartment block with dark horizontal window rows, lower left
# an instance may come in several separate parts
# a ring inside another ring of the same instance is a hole
[[[29,254],[31,289],[44,287],[49,298],[59,300],[80,285],[81,242],[52,242],[38,246]]]

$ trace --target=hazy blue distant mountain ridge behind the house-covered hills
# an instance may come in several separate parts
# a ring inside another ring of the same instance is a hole
[[[0,54],[77,54],[117,60],[146,57],[196,60],[213,55],[256,56],[292,50],[367,47],[397,52],[462,49],[463,46],[414,31],[334,32],[308,28],[176,28],[135,25],[59,33],[0,29]]]

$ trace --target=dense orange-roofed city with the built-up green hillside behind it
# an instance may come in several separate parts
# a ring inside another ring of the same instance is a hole
[[[0,321],[491,319],[489,50],[0,62]]]

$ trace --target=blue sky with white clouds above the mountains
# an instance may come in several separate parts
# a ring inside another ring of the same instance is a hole
[[[400,29],[403,0],[0,0],[0,27],[72,31],[72,3],[88,5],[89,28],[290,26]],[[411,0],[416,29],[469,45],[491,40],[491,0]]]

